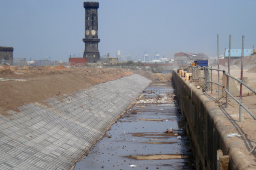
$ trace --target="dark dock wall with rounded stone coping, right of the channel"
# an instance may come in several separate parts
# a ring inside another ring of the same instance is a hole
[[[216,107],[213,100],[201,90],[196,90],[195,85],[185,82],[175,71],[172,72],[172,81],[186,122],[197,169],[216,170],[219,149],[223,155],[230,156],[230,170],[253,169],[252,162],[249,162],[249,158],[252,160],[253,156],[247,154],[250,144],[239,136],[241,132],[233,125],[228,114]],[[229,136],[234,133],[239,135]]]

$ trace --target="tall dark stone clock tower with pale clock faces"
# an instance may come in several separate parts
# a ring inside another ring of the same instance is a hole
[[[97,62],[99,59],[98,43],[98,13],[99,2],[84,2],[85,8],[85,38],[83,42],[84,58],[88,62]]]

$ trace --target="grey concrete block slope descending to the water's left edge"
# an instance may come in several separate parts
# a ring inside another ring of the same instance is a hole
[[[132,74],[0,115],[0,169],[70,169],[150,82]]]

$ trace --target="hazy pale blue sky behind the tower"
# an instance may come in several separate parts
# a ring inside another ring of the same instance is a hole
[[[84,51],[84,0],[0,0],[0,46],[15,58],[68,61]],[[177,52],[217,56],[256,45],[256,0],[99,0],[100,55],[160,57]]]

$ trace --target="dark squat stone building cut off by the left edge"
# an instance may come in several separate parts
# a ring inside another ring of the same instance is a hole
[[[6,62],[13,65],[13,47],[0,47],[0,64]]]

